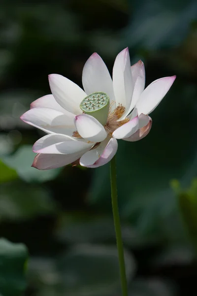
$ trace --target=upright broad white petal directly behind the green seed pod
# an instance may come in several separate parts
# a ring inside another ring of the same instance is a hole
[[[102,91],[108,95],[110,102],[115,101],[111,76],[105,63],[96,52],[84,65],[82,83],[87,95]]]

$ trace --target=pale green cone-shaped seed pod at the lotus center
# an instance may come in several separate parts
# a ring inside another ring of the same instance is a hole
[[[94,92],[83,99],[80,109],[104,125],[109,112],[109,97],[103,92]]]

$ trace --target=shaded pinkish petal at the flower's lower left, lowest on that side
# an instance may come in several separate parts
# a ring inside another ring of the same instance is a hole
[[[84,152],[83,152],[84,153]],[[77,160],[83,153],[72,153],[72,154],[42,154],[38,153],[32,166],[38,170],[50,170],[55,168],[63,167],[75,160]]]

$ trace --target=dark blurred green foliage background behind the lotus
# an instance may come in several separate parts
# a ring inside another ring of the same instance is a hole
[[[48,74],[82,86],[93,52],[111,73],[127,46],[146,85],[177,75],[150,134],[119,141],[129,293],[197,295],[196,0],[1,0],[0,236],[29,249],[26,296],[121,295],[109,166],[32,168],[44,133],[19,117],[50,93]]]

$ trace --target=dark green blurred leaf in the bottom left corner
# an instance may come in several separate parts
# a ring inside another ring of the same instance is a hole
[[[3,296],[20,296],[24,292],[27,259],[27,248],[23,244],[0,239],[0,293]]]

